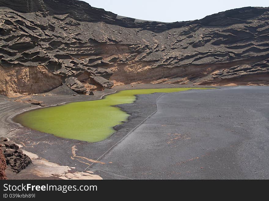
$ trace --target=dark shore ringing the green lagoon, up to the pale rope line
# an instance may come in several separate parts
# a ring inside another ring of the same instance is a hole
[[[100,98],[101,96],[104,96],[108,93],[114,92],[119,89],[123,90],[123,89],[162,88],[162,87],[168,88],[170,86],[194,87],[186,85],[182,86],[179,84],[175,84],[175,86],[172,86],[170,84],[144,84],[144,85],[141,84],[141,85],[134,85],[134,87],[128,85],[128,86],[117,86],[113,87],[112,89],[105,89],[104,91],[95,92],[94,96],[66,95],[70,94],[71,91],[67,91],[65,92],[65,94],[62,95],[53,95],[53,96],[48,95],[50,93],[57,94],[58,91],[56,89],[51,92],[45,93],[46,96],[42,96],[41,94],[32,97],[37,100],[42,100],[46,105],[49,106],[66,101],[85,101],[85,100],[97,99]],[[197,86],[197,87],[212,87],[212,86]],[[61,91],[63,90],[61,89]],[[130,116],[128,121],[125,122],[125,124],[127,125],[124,129],[116,131],[111,137],[98,143],[88,143],[79,140],[59,138],[51,134],[25,128],[17,123],[14,123],[12,121],[12,117],[17,115],[18,113],[22,113],[27,110],[33,110],[39,108],[40,106],[35,106],[28,103],[8,101],[9,98],[0,96],[0,104],[2,106],[0,109],[1,114],[0,135],[10,138],[16,143],[21,144],[23,146],[22,149],[31,153],[35,153],[50,162],[54,162],[59,165],[72,166],[76,168],[76,171],[82,171],[83,169],[85,169],[86,166],[88,166],[87,164],[89,164],[89,161],[97,159],[100,156],[100,153],[104,153],[115,142],[117,142],[119,139],[125,136],[127,130],[130,130],[131,128],[138,125],[141,122],[141,120],[143,120],[146,116],[148,116],[155,110],[157,95],[158,94],[145,95],[145,97],[140,96],[132,104],[126,104],[126,105],[123,104],[122,107],[125,107],[124,110],[128,110],[130,113],[132,112],[134,113],[134,115]],[[143,101],[145,99],[146,101]],[[76,146],[77,149],[75,157],[72,153],[73,146]],[[85,158],[79,158],[79,157],[85,157]],[[22,175],[19,178],[24,178],[24,176],[26,177],[27,175],[26,171],[27,169],[19,173],[20,175]]]

